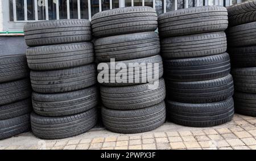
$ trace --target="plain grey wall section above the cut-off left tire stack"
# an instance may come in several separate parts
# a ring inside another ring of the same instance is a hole
[[[0,36],[0,56],[25,54],[27,48],[24,36]]]

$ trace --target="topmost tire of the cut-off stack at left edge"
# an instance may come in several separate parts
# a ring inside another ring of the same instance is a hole
[[[0,83],[29,77],[25,54],[0,56]]]

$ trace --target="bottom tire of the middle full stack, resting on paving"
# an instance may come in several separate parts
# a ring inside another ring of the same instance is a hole
[[[102,107],[106,129],[115,133],[142,133],[154,130],[166,120],[166,105],[162,103],[135,110],[114,110]]]

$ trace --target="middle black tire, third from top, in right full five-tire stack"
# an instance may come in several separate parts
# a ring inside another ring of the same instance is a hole
[[[170,81],[203,81],[230,73],[228,53],[208,57],[163,61],[164,76]]]

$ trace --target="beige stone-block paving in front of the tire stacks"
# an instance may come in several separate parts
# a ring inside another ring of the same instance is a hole
[[[139,134],[92,129],[58,140],[43,140],[32,133],[23,133],[0,141],[0,149],[256,149],[256,117],[236,114],[227,124],[211,128],[167,122],[158,129]]]

